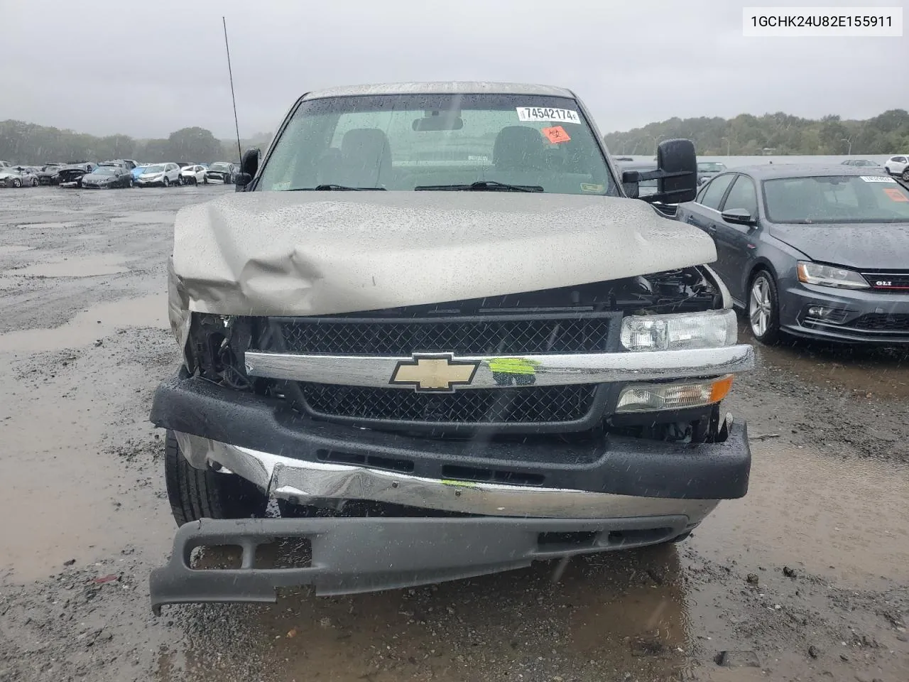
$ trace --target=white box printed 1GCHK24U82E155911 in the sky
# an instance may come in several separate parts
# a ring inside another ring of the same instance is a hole
[[[744,7],[745,37],[903,37],[903,7]]]

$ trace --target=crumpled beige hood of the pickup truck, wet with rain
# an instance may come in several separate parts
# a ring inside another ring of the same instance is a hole
[[[187,311],[312,316],[579,285],[715,257],[709,236],[634,199],[243,192],[179,211],[171,284]]]

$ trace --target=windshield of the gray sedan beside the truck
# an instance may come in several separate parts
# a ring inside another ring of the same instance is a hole
[[[909,222],[909,191],[887,176],[814,176],[764,180],[774,223]]]

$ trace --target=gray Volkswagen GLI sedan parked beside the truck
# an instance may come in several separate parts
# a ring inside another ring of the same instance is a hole
[[[714,269],[759,341],[909,343],[909,191],[883,172],[736,168],[676,218],[714,237]]]

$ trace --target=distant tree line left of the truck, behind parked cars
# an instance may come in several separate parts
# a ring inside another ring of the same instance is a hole
[[[270,134],[256,134],[241,141],[244,149],[265,145]],[[191,161],[239,163],[236,140],[218,140],[200,127],[175,130],[165,139],[139,140],[129,135],[86,135],[73,130],[35,125],[25,121],[0,121],[0,159],[14,164],[69,161],[104,161],[131,158],[140,162]]]

